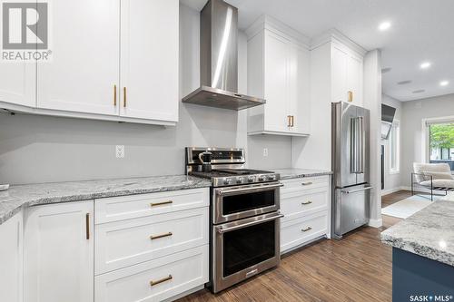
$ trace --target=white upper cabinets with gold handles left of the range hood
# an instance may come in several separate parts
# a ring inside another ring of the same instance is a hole
[[[49,9],[52,58],[3,63],[0,108],[178,122],[178,0],[58,0]]]

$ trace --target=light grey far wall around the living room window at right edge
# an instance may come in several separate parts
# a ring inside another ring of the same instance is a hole
[[[414,161],[425,161],[425,139],[422,121],[428,118],[454,116],[454,94],[418,101],[402,102],[402,164],[400,180],[410,187],[410,173]]]

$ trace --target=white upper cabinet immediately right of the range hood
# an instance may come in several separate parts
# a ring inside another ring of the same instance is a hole
[[[263,16],[248,34],[248,94],[266,100],[250,108],[248,133],[310,133],[310,52],[307,39]]]

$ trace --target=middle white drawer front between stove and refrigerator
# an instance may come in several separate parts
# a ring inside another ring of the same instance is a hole
[[[322,188],[316,190],[300,190],[299,192],[281,198],[281,221],[308,216],[321,210],[328,211],[329,190]]]

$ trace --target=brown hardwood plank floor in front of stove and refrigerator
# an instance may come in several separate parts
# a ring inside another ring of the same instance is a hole
[[[385,207],[410,196],[382,197]],[[284,255],[281,265],[213,295],[207,289],[186,301],[391,301],[391,248],[380,232],[400,219],[383,216],[383,227],[365,227],[342,240],[324,239]]]

